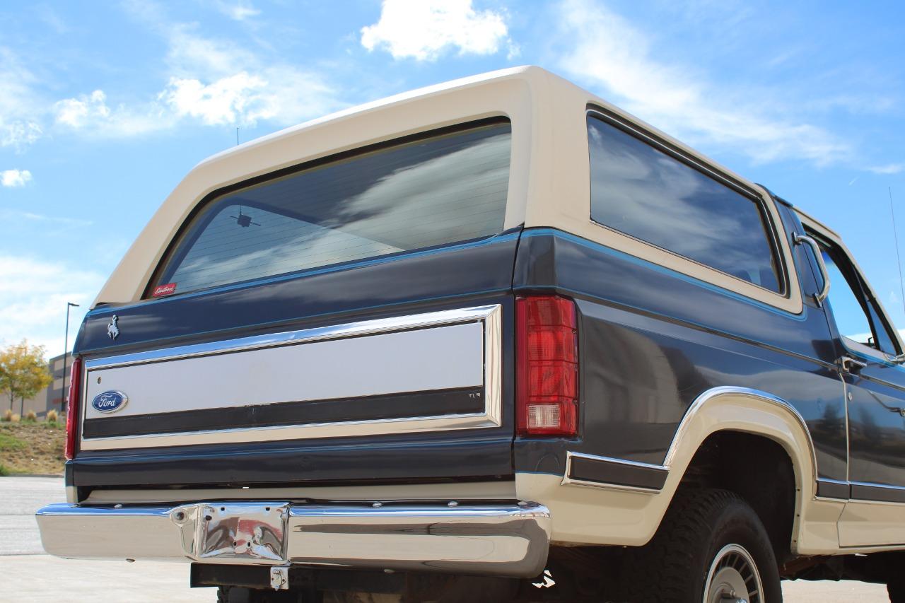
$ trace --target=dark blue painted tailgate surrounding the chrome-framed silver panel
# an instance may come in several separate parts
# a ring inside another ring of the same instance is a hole
[[[400,483],[512,476],[512,266],[519,233],[442,251],[90,312],[84,359],[252,334],[500,303],[503,424],[430,435],[80,451],[67,479],[83,487]],[[110,316],[119,337],[107,336]]]

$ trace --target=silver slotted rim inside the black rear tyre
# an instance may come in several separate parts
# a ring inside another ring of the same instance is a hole
[[[751,553],[740,544],[727,544],[710,564],[703,603],[764,603],[763,592]]]

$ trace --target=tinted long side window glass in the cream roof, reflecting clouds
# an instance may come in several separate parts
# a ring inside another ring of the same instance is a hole
[[[587,134],[595,222],[781,291],[760,202],[591,115]]]

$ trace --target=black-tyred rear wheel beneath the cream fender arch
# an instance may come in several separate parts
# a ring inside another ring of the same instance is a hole
[[[680,489],[653,540],[624,558],[624,600],[778,603],[776,556],[764,525],[737,494]]]

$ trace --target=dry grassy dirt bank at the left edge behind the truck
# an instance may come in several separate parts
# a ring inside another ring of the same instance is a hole
[[[62,475],[65,433],[59,423],[0,422],[0,475]]]

